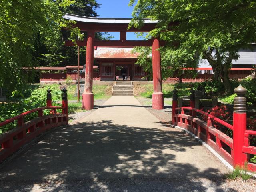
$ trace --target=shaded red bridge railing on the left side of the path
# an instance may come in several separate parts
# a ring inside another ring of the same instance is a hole
[[[68,124],[68,100],[67,90],[62,90],[62,107],[51,106],[52,95],[51,90],[47,90],[46,107],[40,107],[24,112],[18,116],[0,122],[0,127],[18,121],[16,128],[11,129],[0,135],[0,162],[17,151],[24,144],[30,142],[42,132],[54,127]],[[62,113],[57,113],[57,109],[62,109]],[[50,110],[49,115],[44,115],[44,110]],[[28,122],[24,122],[24,117],[38,112],[38,117]]]

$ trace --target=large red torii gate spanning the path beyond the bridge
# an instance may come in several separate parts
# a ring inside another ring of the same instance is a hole
[[[128,24],[131,19],[126,18],[92,18],[65,14],[67,20],[74,20],[74,27],[80,28],[81,31],[87,32],[87,39],[77,41],[78,46],[86,46],[86,70],[84,93],[82,94],[82,108],[86,110],[93,109],[94,95],[92,93],[92,73],[94,60],[94,46],[104,47],[134,47],[134,46],[152,46],[152,70],[153,70],[153,87],[152,108],[164,108],[164,96],[162,93],[162,74],[161,74],[161,56],[157,50],[164,44],[159,38],[150,40],[126,40],[126,32],[149,32],[156,27],[157,21],[144,19],[142,28],[131,28],[128,30]],[[120,40],[96,40],[95,32],[120,32]],[[66,46],[74,46],[72,41],[66,41]]]

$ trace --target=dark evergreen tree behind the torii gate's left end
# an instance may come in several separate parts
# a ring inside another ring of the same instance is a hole
[[[70,6],[61,7],[60,10],[65,13],[75,14],[80,16],[87,17],[98,17],[98,14],[95,12],[96,9],[100,7],[95,0],[76,0],[70,4]],[[70,32],[62,30],[62,36],[65,36],[66,39],[77,39],[78,34],[80,34],[79,29],[76,32],[72,33],[70,37]],[[84,38],[86,38],[86,32],[84,32]],[[108,33],[96,32],[95,38],[97,39],[110,39]],[[39,40],[43,41],[43,40]],[[77,64],[77,47],[67,47],[63,45],[63,38],[58,39],[58,45],[52,46],[49,44],[41,44],[40,48],[36,51],[35,57],[40,60],[40,66],[66,66],[66,65],[76,65]],[[85,64],[85,54],[86,48],[80,47],[80,63]]]

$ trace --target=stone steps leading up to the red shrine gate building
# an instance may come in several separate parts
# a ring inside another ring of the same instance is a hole
[[[116,81],[113,86],[112,95],[127,95],[133,96],[133,86],[131,81]]]

